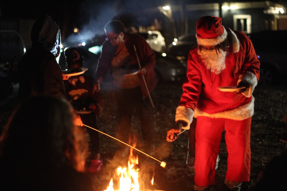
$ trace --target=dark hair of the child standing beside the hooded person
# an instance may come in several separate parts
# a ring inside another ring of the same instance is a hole
[[[72,66],[74,64],[82,67],[84,58],[82,52],[77,47],[68,48],[64,52],[66,58],[66,66]]]

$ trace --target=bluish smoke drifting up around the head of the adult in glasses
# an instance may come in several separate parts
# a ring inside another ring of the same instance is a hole
[[[93,40],[95,36],[105,35],[105,24],[119,14],[127,15],[130,25],[150,25],[153,21],[150,13],[144,14],[141,11],[151,7],[157,7],[154,1],[86,0],[78,6],[76,23],[80,26],[79,33],[69,35],[65,41],[68,44],[78,45],[83,41]]]

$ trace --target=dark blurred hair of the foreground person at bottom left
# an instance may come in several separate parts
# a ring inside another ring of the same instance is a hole
[[[77,150],[74,117],[70,103],[54,96],[38,95],[19,105],[0,138],[0,175],[75,168],[77,155],[86,150]]]

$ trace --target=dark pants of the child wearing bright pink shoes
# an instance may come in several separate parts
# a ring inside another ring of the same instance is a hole
[[[97,117],[92,112],[89,114],[80,114],[83,124],[97,129]],[[100,153],[99,132],[86,127],[90,137],[90,150],[92,154]]]

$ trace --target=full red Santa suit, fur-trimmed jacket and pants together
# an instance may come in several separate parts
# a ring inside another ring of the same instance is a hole
[[[190,50],[183,93],[175,115],[176,122],[187,123],[183,129],[189,129],[193,117],[197,118],[194,165],[197,186],[215,184],[215,164],[223,129],[228,151],[225,178],[246,182],[250,177],[250,126],[254,112],[252,92],[259,80],[260,62],[244,33],[226,27],[225,30],[230,44],[225,69],[219,74],[206,68],[198,54],[198,47]],[[241,81],[249,85],[246,87],[248,91],[241,94],[217,89],[220,86],[237,86]]]

